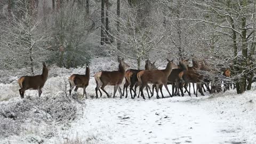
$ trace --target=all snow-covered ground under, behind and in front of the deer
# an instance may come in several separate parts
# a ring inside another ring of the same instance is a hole
[[[114,70],[117,63],[111,63],[112,69],[102,69]],[[93,63],[92,66],[95,67],[91,76],[101,69]],[[40,98],[42,101],[65,95],[65,79],[72,73],[84,73],[83,68],[51,69],[58,76],[51,74],[47,80]],[[87,96],[95,95],[94,88],[95,81],[91,77]],[[106,90],[113,95],[114,87],[107,86]],[[0,112],[1,106],[9,103],[27,102],[20,100],[16,82],[0,84],[0,92]],[[82,90],[78,90],[78,94],[81,96]],[[24,129],[9,137],[0,135],[0,143],[256,143],[255,94],[255,86],[239,95],[230,90],[213,95],[206,93],[198,98],[194,94],[192,97],[185,94],[185,97],[133,100],[129,94],[127,99],[108,99],[103,94],[100,99],[70,102],[70,106],[77,107],[74,120],[63,124],[44,122],[35,127],[34,120],[26,121],[25,125],[33,125],[33,130]],[[166,91],[164,95],[167,96]],[[39,99],[37,91],[26,91],[25,97]],[[15,123],[15,120],[11,122]]]

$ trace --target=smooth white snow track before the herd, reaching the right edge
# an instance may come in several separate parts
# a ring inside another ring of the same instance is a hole
[[[255,143],[253,93],[89,99],[84,115],[64,133],[84,141],[93,138],[92,143]]]

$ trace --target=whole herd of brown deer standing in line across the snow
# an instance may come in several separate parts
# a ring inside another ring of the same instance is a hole
[[[180,93],[183,97],[184,93],[190,94],[190,85],[193,85],[194,94],[197,97],[197,93],[201,93],[204,95],[205,89],[212,93],[215,90],[220,90],[220,87],[211,86],[210,89],[210,79],[206,78],[200,71],[207,71],[208,69],[205,67],[205,63],[202,61],[196,61],[192,59],[193,66],[189,67],[189,59],[180,60],[178,65],[175,65],[173,60],[167,60],[167,65],[165,69],[157,69],[155,66],[155,62],[150,62],[150,60],[145,61],[145,70],[137,70],[137,69],[129,69],[129,65],[124,62],[123,59],[118,58],[118,70],[115,71],[99,71],[94,75],[95,82],[97,86],[95,87],[96,98],[98,98],[98,91],[100,92],[100,97],[102,97],[101,90],[106,93],[109,98],[110,95],[105,90],[107,85],[114,85],[114,95],[115,98],[116,91],[119,91],[120,98],[125,95],[127,98],[127,87],[130,86],[130,94],[131,98],[134,99],[137,97],[137,87],[139,86],[139,94],[138,98],[141,95],[143,99],[145,99],[143,89],[146,87],[148,98],[150,99],[154,95],[154,90],[156,90],[156,98],[159,98],[158,91],[160,90],[162,94],[162,98],[164,98],[164,94],[162,92],[163,86],[169,93],[169,96],[172,97],[174,95],[179,95]],[[45,62],[43,62],[43,73],[42,75],[36,76],[22,76],[18,79],[18,84],[20,86],[19,93],[21,98],[24,98],[24,93],[26,90],[38,90],[38,96],[40,97],[42,94],[42,88],[47,80],[49,73],[49,69],[46,67]],[[223,76],[230,77],[230,69],[223,70]],[[121,90],[121,84],[123,79],[125,78],[125,84],[123,86],[123,93]],[[72,90],[75,87],[75,93],[77,93],[77,89],[79,87],[83,88],[83,97],[87,99],[86,87],[89,85],[90,80],[90,68],[89,65],[86,64],[85,75],[73,74],[68,78],[70,84],[69,95],[71,95]],[[152,84],[152,91],[150,90],[149,84]],[[167,85],[172,85],[172,93],[170,93]],[[196,84],[196,90],[194,88],[194,84]],[[229,89],[229,84],[223,82],[224,91]],[[189,90],[188,90],[189,87]],[[219,88],[219,89],[217,89]],[[126,89],[126,94],[125,93]],[[185,89],[185,92],[183,92]],[[150,94],[148,92],[150,91]],[[132,92],[134,94],[132,94]]]

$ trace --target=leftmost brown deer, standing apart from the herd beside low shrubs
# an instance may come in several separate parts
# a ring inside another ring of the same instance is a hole
[[[26,90],[37,90],[39,98],[42,94],[42,88],[48,78],[49,69],[46,67],[45,62],[43,62],[43,73],[42,75],[36,76],[22,76],[18,79],[18,84],[20,86],[19,92],[21,99],[24,98],[24,93]]]

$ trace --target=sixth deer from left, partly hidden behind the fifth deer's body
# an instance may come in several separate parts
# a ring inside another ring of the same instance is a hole
[[[180,61],[181,63],[183,63],[183,65],[186,65],[188,66],[189,65],[189,59],[183,59]],[[173,68],[172,68],[172,72],[171,74],[169,75],[168,77],[168,81],[167,81],[167,85],[171,84],[172,85],[172,95],[174,95],[174,88],[175,88],[175,93],[177,93],[178,95],[180,95],[179,93],[179,89],[177,89],[178,87],[178,82],[179,82],[179,73],[182,71],[183,69],[180,67],[180,65],[175,65]],[[160,92],[163,96],[163,92],[162,92],[162,88],[163,88],[163,85],[160,85],[159,86],[159,89],[160,89]],[[151,94],[151,97],[153,97],[154,95],[154,89],[156,89],[156,84],[153,85],[152,87],[152,94]],[[177,91],[178,90],[178,91]]]

